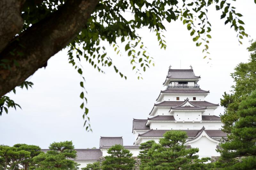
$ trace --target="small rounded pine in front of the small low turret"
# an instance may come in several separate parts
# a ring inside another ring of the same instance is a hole
[[[114,145],[108,149],[109,156],[102,162],[103,170],[130,170],[135,164],[132,153],[122,145]]]

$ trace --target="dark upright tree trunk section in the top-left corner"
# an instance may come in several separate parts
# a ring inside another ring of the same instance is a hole
[[[0,1],[0,52],[22,29],[23,19],[20,14],[24,2],[25,0]]]

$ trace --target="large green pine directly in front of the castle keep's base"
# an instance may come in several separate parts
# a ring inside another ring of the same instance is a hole
[[[187,133],[173,130],[164,133],[159,144],[153,144],[148,151],[149,162],[145,170],[178,170],[178,169],[206,169],[204,162],[210,158],[199,160],[196,153],[198,148],[186,149]]]

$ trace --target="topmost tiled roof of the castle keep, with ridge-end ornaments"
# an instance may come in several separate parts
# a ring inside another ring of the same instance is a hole
[[[200,76],[195,76],[193,69],[189,69],[189,70],[169,69],[167,78],[194,79],[194,78],[200,78]]]

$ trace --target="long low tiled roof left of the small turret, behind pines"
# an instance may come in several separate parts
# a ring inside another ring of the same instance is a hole
[[[98,160],[102,156],[100,149],[75,149],[76,158],[71,160]],[[42,150],[44,153],[49,149]]]

